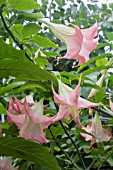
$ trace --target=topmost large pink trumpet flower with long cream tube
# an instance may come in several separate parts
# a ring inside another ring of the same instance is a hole
[[[76,25],[71,28],[63,24],[51,23],[44,19],[42,19],[42,22],[52,30],[57,38],[66,44],[67,53],[62,58],[78,60],[78,65],[88,61],[89,54],[98,45],[98,38],[95,38],[98,32],[97,23],[88,29],[80,30]]]

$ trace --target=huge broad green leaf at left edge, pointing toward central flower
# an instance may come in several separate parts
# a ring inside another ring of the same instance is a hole
[[[28,80],[50,80],[56,82],[52,74],[32,63],[25,56],[25,51],[16,50],[2,40],[0,40],[0,48],[0,78],[21,76]]]

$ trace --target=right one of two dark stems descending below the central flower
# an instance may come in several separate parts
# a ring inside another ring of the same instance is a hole
[[[79,156],[79,159],[80,159],[80,161],[81,161],[81,163],[82,163],[82,165],[83,165],[84,170],[87,170],[87,169],[86,169],[86,166],[85,166],[85,164],[84,164],[84,161],[83,161],[83,159],[82,159],[81,153],[80,153],[80,151],[79,151],[76,143],[73,141],[73,139],[71,138],[71,136],[69,135],[69,133],[68,133],[67,130],[65,129],[62,121],[60,120],[59,122],[60,122],[60,124],[61,124],[64,132],[66,133],[66,135],[68,136],[68,138],[71,140],[72,144],[74,145],[74,147],[75,147],[75,149],[76,149],[76,151],[77,151],[77,154],[78,154],[78,156]]]

